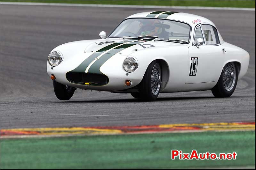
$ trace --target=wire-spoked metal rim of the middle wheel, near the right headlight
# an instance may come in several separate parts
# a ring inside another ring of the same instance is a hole
[[[153,67],[151,74],[151,91],[153,95],[157,95],[162,84],[162,74],[159,63],[156,63]]]

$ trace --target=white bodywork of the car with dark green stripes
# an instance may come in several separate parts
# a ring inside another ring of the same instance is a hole
[[[197,48],[193,44],[194,32],[198,25],[206,23],[215,26],[209,19],[182,12],[157,11],[156,15],[152,13],[154,11],[142,12],[126,19],[155,16],[186,22],[191,26],[189,43],[130,38],[69,42],[52,50],[52,52],[60,52],[63,60],[55,67],[47,62],[48,75],[54,74],[57,82],[80,89],[110,92],[125,92],[128,89],[126,92],[132,92],[133,88],[143,79],[148,65],[154,60],[159,60],[167,65],[163,72],[166,78],[161,92],[185,92],[212,89],[216,85],[224,65],[228,62],[239,63],[238,79],[241,79],[246,73],[249,54],[242,48],[224,42],[218,30],[219,45]],[[222,48],[225,48],[226,52]],[[122,65],[127,56],[136,58],[139,63],[138,68],[131,73],[127,73]],[[189,76],[191,58],[193,57],[198,59],[197,73],[195,76]],[[108,83],[106,85],[73,83],[66,77],[66,74],[72,71],[106,75]],[[125,85],[126,80],[132,82],[131,86]]]

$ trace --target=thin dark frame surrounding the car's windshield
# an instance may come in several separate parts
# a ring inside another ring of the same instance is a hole
[[[157,39],[157,41],[167,41],[167,42],[175,42],[175,43],[180,43],[180,44],[189,44],[190,43],[190,40],[191,40],[191,25],[188,24],[187,22],[184,22],[184,21],[179,21],[179,20],[175,20],[175,19],[166,19],[166,18],[147,18],[147,17],[133,17],[133,18],[125,18],[122,22],[120,22],[120,24],[118,24],[118,26],[116,26],[116,28],[118,28],[125,20],[127,19],[161,19],[161,20],[169,20],[169,21],[175,21],[175,22],[180,22],[180,23],[184,23],[184,24],[187,24],[189,26],[189,41],[188,42],[181,42],[181,41],[169,41],[169,40],[162,40],[162,39]],[[110,37],[109,35],[112,34],[116,28],[108,34],[108,37],[107,38],[123,38],[123,37]],[[150,40],[154,40],[152,38],[138,38],[138,37],[126,37],[126,38],[135,38],[135,39],[150,39]]]

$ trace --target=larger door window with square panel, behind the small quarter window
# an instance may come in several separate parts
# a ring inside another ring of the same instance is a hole
[[[218,32],[216,28],[210,25],[201,25],[201,27],[204,32],[204,41],[206,45],[220,44],[220,40],[219,40]]]

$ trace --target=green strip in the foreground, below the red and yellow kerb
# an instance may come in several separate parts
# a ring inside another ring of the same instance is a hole
[[[171,150],[237,153],[236,160],[171,160]],[[255,131],[1,139],[1,169],[255,166]]]

